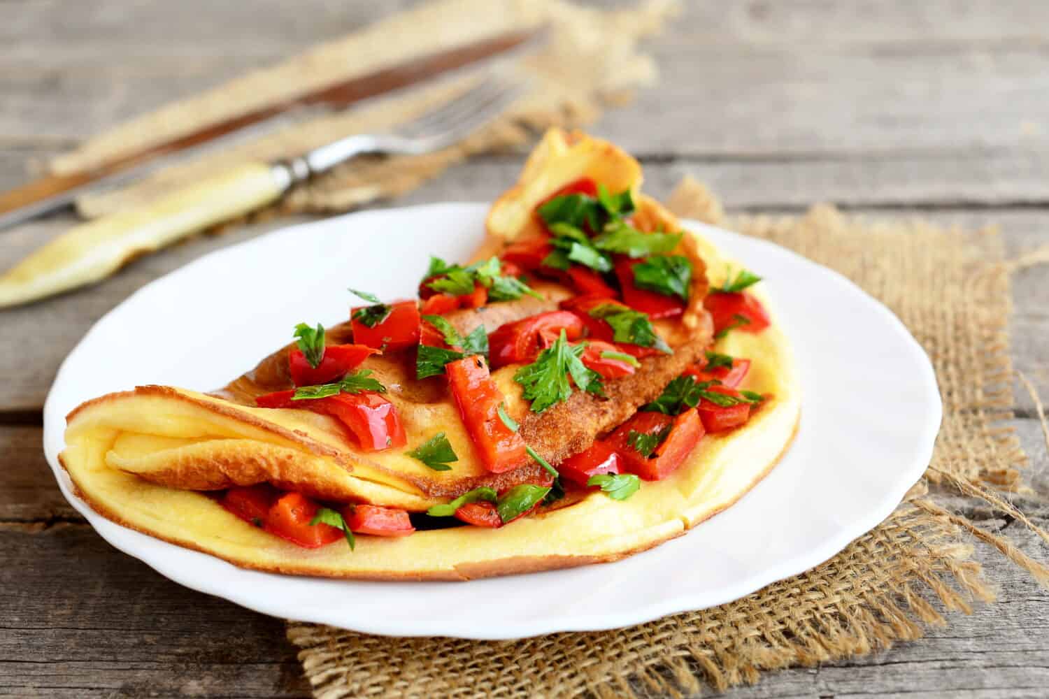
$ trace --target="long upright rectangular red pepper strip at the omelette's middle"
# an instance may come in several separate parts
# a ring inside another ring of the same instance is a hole
[[[445,365],[445,372],[463,424],[485,467],[493,474],[501,474],[527,463],[524,440],[499,417],[499,405],[505,397],[492,380],[485,361],[479,356],[456,359]]]

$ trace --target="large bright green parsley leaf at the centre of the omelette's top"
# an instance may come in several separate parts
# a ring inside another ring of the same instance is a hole
[[[557,402],[568,400],[572,395],[572,380],[581,390],[604,395],[601,375],[587,369],[579,358],[586,349],[586,343],[573,347],[569,345],[564,330],[552,346],[539,352],[532,364],[521,367],[514,374],[514,380],[524,388],[524,399],[532,401],[532,412],[541,413]]]

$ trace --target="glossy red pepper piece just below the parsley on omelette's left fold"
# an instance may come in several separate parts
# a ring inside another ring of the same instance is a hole
[[[308,400],[292,400],[293,395],[295,391],[266,393],[255,398],[255,403],[259,408],[295,408],[330,415],[354,433],[365,451],[404,446],[408,442],[397,407],[378,393],[340,393]]]

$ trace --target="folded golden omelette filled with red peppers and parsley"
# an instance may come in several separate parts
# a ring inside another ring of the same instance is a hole
[[[303,319],[218,390],[73,410],[77,495],[237,566],[361,580],[608,562],[684,533],[771,471],[800,390],[761,270],[641,182],[614,145],[549,131],[475,256],[432,258],[418,298],[350,289],[347,316]]]

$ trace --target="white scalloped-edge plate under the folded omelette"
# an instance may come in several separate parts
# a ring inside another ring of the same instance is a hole
[[[367,633],[498,639],[623,627],[736,599],[837,553],[883,520],[927,465],[939,391],[928,358],[896,316],[794,253],[688,222],[766,278],[797,356],[802,418],[771,475],[685,537],[570,570],[360,583],[241,570],[113,524],[71,494],[57,456],[77,405],[140,384],[222,386],[285,344],[296,323],[345,319],[347,286],[413,296],[431,253],[469,256],[486,209],[414,206],[298,225],[140,289],[91,328],[47,397],[44,450],[66,499],[116,548],[250,609]]]

